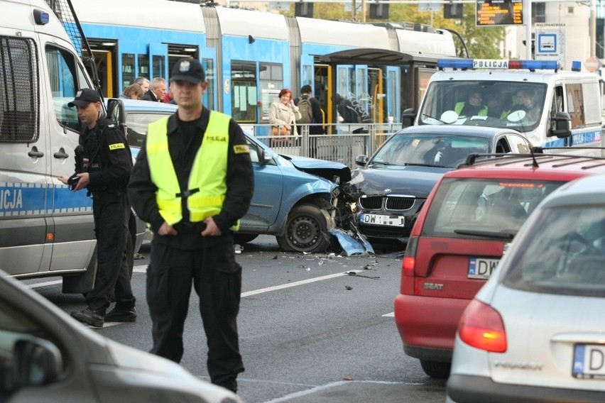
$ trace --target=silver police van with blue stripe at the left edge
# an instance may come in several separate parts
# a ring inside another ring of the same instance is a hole
[[[80,123],[67,103],[91,80],[45,1],[0,9],[0,269],[62,276],[63,292],[86,292],[97,267],[92,199],[57,177],[75,170]]]

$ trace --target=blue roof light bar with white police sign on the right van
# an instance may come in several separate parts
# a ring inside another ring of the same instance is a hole
[[[462,70],[560,70],[559,60],[491,60],[491,59],[437,59],[440,69]]]

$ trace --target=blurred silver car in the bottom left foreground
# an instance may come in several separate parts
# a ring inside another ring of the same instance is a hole
[[[0,270],[0,402],[243,403],[180,365],[87,329]]]

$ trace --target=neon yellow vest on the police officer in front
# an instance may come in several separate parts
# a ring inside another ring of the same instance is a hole
[[[146,145],[149,170],[151,180],[158,187],[156,201],[166,223],[173,225],[182,220],[183,196],[187,197],[191,222],[204,221],[221,211],[227,193],[229,119],[225,114],[210,112],[202,146],[195,155],[188,189],[184,192],[179,187],[168,150],[168,118],[149,125]]]

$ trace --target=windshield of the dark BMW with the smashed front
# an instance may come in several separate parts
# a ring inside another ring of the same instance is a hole
[[[369,165],[457,167],[470,153],[488,153],[489,138],[444,134],[393,135]]]

